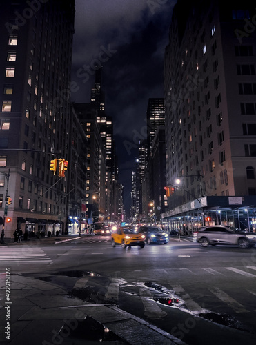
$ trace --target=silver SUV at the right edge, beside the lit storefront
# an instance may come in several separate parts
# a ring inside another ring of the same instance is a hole
[[[231,244],[239,248],[249,248],[256,244],[256,234],[237,231],[229,226],[203,226],[199,229],[196,240],[202,247],[209,244]]]

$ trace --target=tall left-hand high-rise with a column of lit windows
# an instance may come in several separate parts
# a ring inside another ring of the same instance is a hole
[[[74,14],[74,0],[1,4],[0,212],[11,219],[7,237],[17,226],[32,233],[65,223],[66,177],[54,175],[50,161],[68,158]]]

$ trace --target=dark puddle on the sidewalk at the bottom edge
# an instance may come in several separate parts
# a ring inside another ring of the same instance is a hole
[[[72,326],[70,327],[70,325]],[[83,321],[77,321],[77,319],[68,320],[68,324],[63,324],[59,330],[59,337],[66,335],[67,331],[69,335],[66,339],[74,342],[74,344],[76,341],[79,344],[80,342],[116,342],[120,345],[128,344],[92,317],[86,317]]]

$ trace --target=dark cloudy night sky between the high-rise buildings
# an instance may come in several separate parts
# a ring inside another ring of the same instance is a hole
[[[164,97],[164,49],[176,0],[76,0],[72,101],[90,102],[95,62],[103,66],[126,212],[150,97]]]

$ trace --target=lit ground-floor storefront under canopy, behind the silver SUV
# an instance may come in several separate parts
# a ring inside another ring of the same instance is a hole
[[[204,225],[226,225],[255,233],[256,196],[200,197],[162,214],[170,233],[192,235]]]

